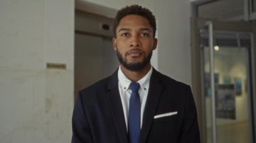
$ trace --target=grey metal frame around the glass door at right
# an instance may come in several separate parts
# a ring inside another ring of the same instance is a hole
[[[201,48],[200,48],[200,34],[199,29],[203,28],[205,26],[205,23],[207,21],[211,21],[213,24],[213,30],[218,31],[230,31],[230,32],[250,32],[252,34],[252,46],[250,48],[250,58],[249,59],[249,73],[251,80],[251,115],[252,120],[251,124],[253,125],[253,128],[251,130],[252,137],[251,140],[255,141],[255,115],[256,115],[256,76],[255,76],[255,56],[256,56],[256,23],[249,23],[245,21],[218,21],[213,19],[199,19],[199,18],[191,18],[191,64],[192,64],[192,89],[193,94],[197,95],[195,96],[195,103],[197,104],[197,113],[198,113],[198,122],[199,122],[199,129],[200,129],[200,135],[201,135],[201,142],[206,142],[206,121],[205,121],[205,110],[204,110],[204,97],[203,97],[203,60],[202,60],[202,54],[201,54]]]

